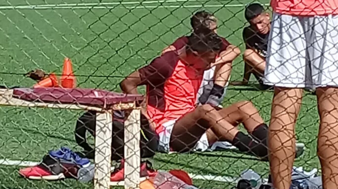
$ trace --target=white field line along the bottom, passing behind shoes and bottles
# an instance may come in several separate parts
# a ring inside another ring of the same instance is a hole
[[[30,167],[30,166],[38,165],[39,163],[40,162],[34,162],[34,161],[0,159],[0,165],[11,165],[11,166],[15,165],[15,166]],[[199,175],[199,174],[189,173],[189,176],[192,179],[217,181],[217,182],[237,183],[239,181],[239,178],[214,176],[214,175]],[[267,179],[264,179],[263,182],[266,183]]]

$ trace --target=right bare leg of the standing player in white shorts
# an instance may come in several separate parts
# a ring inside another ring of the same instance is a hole
[[[320,127],[318,157],[322,167],[323,188],[338,187],[338,89],[316,90]]]

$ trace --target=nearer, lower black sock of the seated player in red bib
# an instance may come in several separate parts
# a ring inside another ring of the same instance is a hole
[[[251,137],[242,132],[238,132],[231,143],[241,152],[249,152],[260,158],[267,159],[268,149],[266,145],[257,143]]]

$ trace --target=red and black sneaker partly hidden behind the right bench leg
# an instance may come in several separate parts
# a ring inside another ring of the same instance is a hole
[[[152,164],[149,161],[141,162],[140,177],[155,177],[157,171],[152,169]],[[124,160],[121,161],[120,166],[115,169],[110,176],[110,181],[118,182],[124,180]]]

